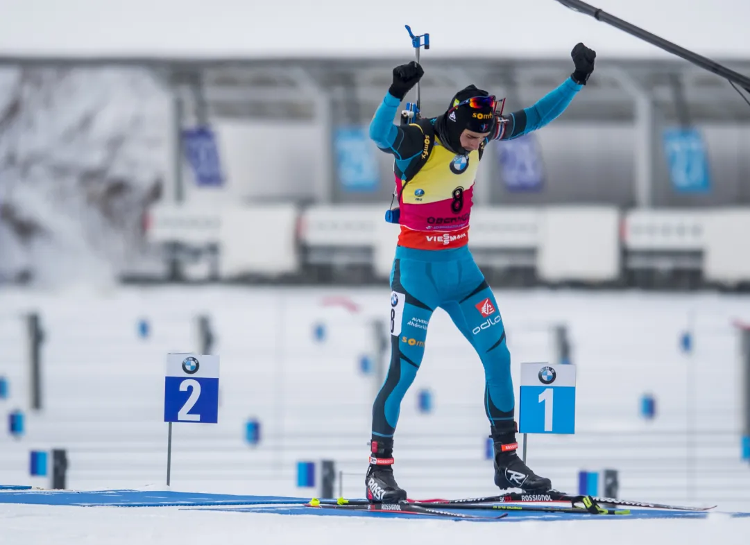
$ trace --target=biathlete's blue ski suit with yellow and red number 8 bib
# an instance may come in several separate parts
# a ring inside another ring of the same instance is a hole
[[[381,151],[395,156],[401,235],[390,278],[391,362],[374,401],[374,438],[392,438],[395,433],[401,400],[422,364],[428,325],[437,308],[449,314],[484,366],[483,403],[490,426],[514,426],[505,328],[492,289],[467,245],[474,176],[487,142],[514,139],[544,127],[582,87],[572,78],[565,79],[533,106],[500,115],[480,148],[469,154],[452,153],[441,144],[430,127],[437,118],[394,124],[401,101],[391,94],[383,98],[371,121],[370,136]],[[428,139],[434,144],[429,150]],[[414,161],[422,162],[416,173],[410,172]]]

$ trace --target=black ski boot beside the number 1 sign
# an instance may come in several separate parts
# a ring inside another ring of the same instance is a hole
[[[520,488],[529,493],[552,490],[552,482],[549,479],[535,475],[518,457],[515,422],[508,423],[508,426],[502,429],[491,427],[490,430],[495,453],[495,484],[498,487],[502,490]]]

